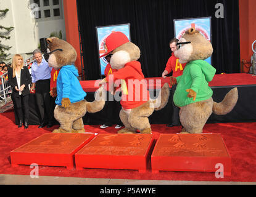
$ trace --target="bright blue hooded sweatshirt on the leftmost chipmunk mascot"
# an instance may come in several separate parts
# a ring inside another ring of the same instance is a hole
[[[56,105],[61,105],[62,98],[69,98],[71,103],[76,103],[85,97],[86,92],[78,80],[78,70],[74,65],[62,66],[57,77]]]

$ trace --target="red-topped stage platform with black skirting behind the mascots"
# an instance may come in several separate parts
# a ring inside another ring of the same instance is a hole
[[[161,86],[168,82],[170,86],[170,78],[146,78],[149,84],[149,90],[151,96],[156,96],[159,92],[160,86],[157,86],[157,82],[160,82]],[[96,80],[92,81],[80,81],[81,86],[87,93],[86,100],[92,102],[94,100],[94,92],[97,90]],[[243,123],[243,122],[255,122],[256,121],[256,76],[253,74],[236,73],[236,74],[215,74],[213,80],[209,82],[209,86],[213,90],[213,100],[215,102],[221,102],[226,93],[233,87],[238,89],[238,101],[233,111],[228,115],[218,116],[212,114],[207,123]],[[114,123],[118,123],[118,111],[120,105],[115,106],[115,113],[112,115]],[[167,106],[160,111],[154,111],[149,116],[151,124],[168,124],[170,123],[172,108],[171,100],[169,99]],[[97,113],[86,113],[83,117],[84,124],[104,124],[105,119],[109,116],[105,107],[102,111]],[[30,94],[30,122],[31,125],[39,124],[38,110],[35,105],[35,95]],[[18,124],[17,116],[15,115],[15,123]]]

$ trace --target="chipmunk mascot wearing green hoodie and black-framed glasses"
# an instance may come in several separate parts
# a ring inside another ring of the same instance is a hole
[[[171,85],[178,83],[173,102],[180,107],[181,133],[202,133],[212,113],[226,115],[233,110],[238,99],[237,88],[231,89],[222,102],[213,102],[213,91],[208,86],[215,75],[215,68],[204,60],[212,55],[212,44],[194,28],[190,28],[180,41],[175,56],[180,63],[187,63],[183,74],[170,78]]]

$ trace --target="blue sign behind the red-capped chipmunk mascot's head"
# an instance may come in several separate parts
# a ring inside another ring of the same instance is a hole
[[[97,31],[97,44],[99,49],[99,56],[105,54],[106,52],[104,49],[105,39],[112,32],[121,31],[127,36],[129,40],[131,40],[130,39],[130,23],[123,24],[123,25],[97,26],[96,31]],[[99,62],[101,65],[101,74],[104,74],[105,66],[107,66],[108,62],[105,59],[105,57],[99,58]]]

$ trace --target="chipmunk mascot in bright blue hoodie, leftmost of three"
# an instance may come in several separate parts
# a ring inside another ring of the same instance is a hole
[[[78,80],[78,70],[74,62],[76,50],[66,41],[59,38],[47,38],[49,55],[49,66],[59,70],[57,77],[57,97],[54,118],[60,123],[59,129],[54,133],[83,133],[85,132],[83,116],[86,112],[96,113],[101,111],[105,105],[104,89],[96,91],[96,100],[87,102],[86,92]]]

